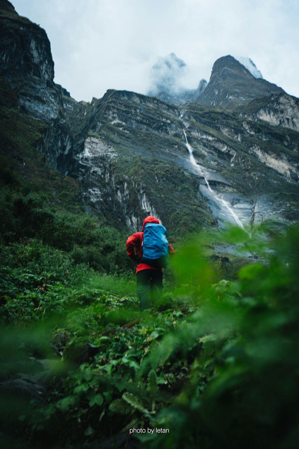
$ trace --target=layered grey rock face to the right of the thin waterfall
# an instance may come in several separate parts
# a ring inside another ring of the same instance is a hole
[[[185,105],[182,114],[188,142],[205,177],[201,191],[210,204],[215,198],[206,180],[243,224],[298,219],[297,132],[210,106]]]

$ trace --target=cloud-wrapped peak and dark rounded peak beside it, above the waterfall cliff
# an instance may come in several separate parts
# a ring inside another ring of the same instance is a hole
[[[201,79],[197,89],[186,89],[188,68],[174,53],[160,58],[151,70],[148,95],[176,105],[197,101],[243,113],[245,119],[263,120],[298,129],[298,101],[282,88],[263,79],[248,57],[219,58],[209,82]]]

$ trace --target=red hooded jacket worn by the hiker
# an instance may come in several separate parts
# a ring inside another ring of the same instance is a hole
[[[135,260],[136,262],[138,262],[139,259],[142,259],[143,231],[144,231],[144,227],[147,223],[156,223],[157,225],[159,225],[159,220],[151,215],[146,217],[143,220],[142,232],[136,232],[136,233],[132,234],[127,240],[128,256],[132,260]],[[169,254],[173,254],[175,252],[173,247],[170,244],[168,244],[168,249],[169,249]],[[141,262],[136,267],[136,274],[141,270],[147,270],[147,269],[162,271],[160,268],[152,267],[151,265],[143,264],[143,262]]]

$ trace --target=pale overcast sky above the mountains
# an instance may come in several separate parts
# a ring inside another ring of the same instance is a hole
[[[78,101],[110,88],[147,93],[151,67],[169,53],[189,67],[187,87],[230,54],[299,97],[298,0],[10,1],[46,30],[54,80]]]

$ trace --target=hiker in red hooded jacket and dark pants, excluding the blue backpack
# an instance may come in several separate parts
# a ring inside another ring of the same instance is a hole
[[[162,269],[144,264],[142,261],[143,231],[147,223],[156,223],[159,225],[159,220],[153,216],[147,216],[143,220],[142,232],[132,234],[126,243],[128,256],[137,262],[136,283],[141,310],[150,308],[160,298],[163,288]],[[169,255],[175,252],[170,244],[168,244],[168,249]]]

